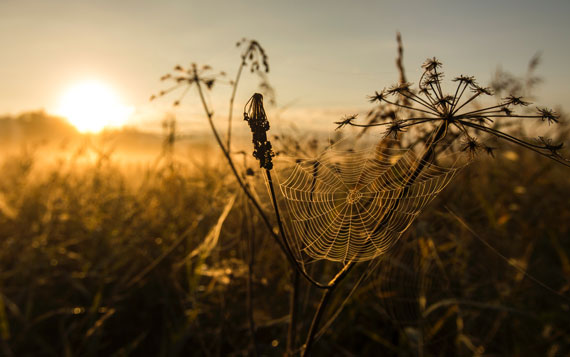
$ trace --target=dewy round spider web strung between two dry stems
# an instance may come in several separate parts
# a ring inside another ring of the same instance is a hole
[[[334,145],[297,160],[279,185],[297,258],[346,263],[382,255],[457,170],[422,161],[388,140],[363,150]]]

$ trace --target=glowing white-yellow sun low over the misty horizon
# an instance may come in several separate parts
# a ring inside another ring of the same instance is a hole
[[[80,132],[97,133],[121,127],[133,112],[119,96],[98,81],[85,81],[69,88],[61,97],[56,114],[66,118]]]

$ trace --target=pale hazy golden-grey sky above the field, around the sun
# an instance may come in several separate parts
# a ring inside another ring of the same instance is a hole
[[[174,97],[148,99],[177,64],[233,76],[235,43],[247,37],[267,51],[277,104],[290,120],[333,122],[368,108],[367,95],[397,81],[397,31],[411,82],[427,57],[444,63],[447,78],[488,83],[499,66],[524,74],[540,52],[537,103],[568,109],[569,15],[568,0],[0,0],[0,115],[52,112],[67,88],[97,79],[134,108],[130,125],[151,127],[169,111],[203,121],[193,93],[179,109]],[[236,107],[257,89],[251,76],[242,84]],[[214,110],[228,98],[227,86],[214,90]]]

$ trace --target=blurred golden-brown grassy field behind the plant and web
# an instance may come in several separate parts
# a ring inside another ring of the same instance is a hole
[[[255,239],[258,350],[284,353],[288,266],[212,160],[221,159],[213,141],[169,151],[165,135],[82,135],[43,113],[0,125],[10,128],[0,163],[1,355],[248,354],[246,236]],[[567,355],[569,197],[568,170],[551,160],[508,146],[481,157],[369,272],[315,354]],[[306,286],[302,294],[308,320],[318,299]]]

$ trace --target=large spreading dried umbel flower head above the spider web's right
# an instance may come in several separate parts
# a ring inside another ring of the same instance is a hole
[[[549,124],[557,123],[559,118],[557,113],[551,109],[538,107],[535,114],[516,113],[513,108],[525,107],[530,103],[523,100],[522,97],[514,95],[503,98],[496,105],[470,108],[469,105],[473,104],[476,99],[482,96],[492,96],[493,90],[478,85],[474,77],[461,75],[452,80],[457,83],[454,94],[444,94],[442,90],[443,73],[439,71],[441,67],[441,62],[436,58],[428,58],[422,65],[423,73],[417,89],[413,89],[410,83],[402,83],[396,84],[388,90],[375,92],[369,98],[371,102],[378,103],[378,108],[369,112],[366,124],[355,122],[355,118],[345,118],[336,124],[339,125],[339,128],[346,125],[364,127],[365,129],[373,126],[386,126],[387,135],[394,135],[395,137],[397,133],[405,131],[409,127],[436,124],[442,128],[444,137],[449,135],[452,141],[454,138],[462,137],[464,141],[461,149],[469,152],[471,156],[479,150],[484,150],[489,155],[493,155],[494,148],[480,145],[477,142],[477,135],[475,134],[484,133],[520,145],[570,167],[570,161],[559,154],[562,147],[560,144],[552,144],[545,138],[539,138],[537,142],[529,142],[501,131],[496,126],[491,126],[495,122],[508,119],[541,119],[548,121]],[[396,96],[396,99],[392,99],[389,95]],[[397,109],[404,110],[399,111]],[[392,116],[387,113],[391,113]],[[402,113],[406,117],[396,117]]]

